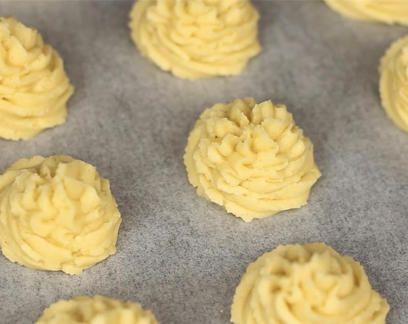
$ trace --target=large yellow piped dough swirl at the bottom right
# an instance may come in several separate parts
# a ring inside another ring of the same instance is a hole
[[[389,306],[363,267],[324,243],[279,246],[249,264],[234,324],[385,324]]]

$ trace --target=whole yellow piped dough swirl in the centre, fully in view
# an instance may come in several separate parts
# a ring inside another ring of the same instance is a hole
[[[197,194],[246,222],[305,205],[321,175],[312,143],[286,107],[253,98],[206,109],[184,164]]]

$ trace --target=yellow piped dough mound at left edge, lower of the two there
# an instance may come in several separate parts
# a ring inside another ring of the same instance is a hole
[[[116,252],[109,181],[70,156],[21,159],[0,176],[0,245],[12,262],[80,274]]]

